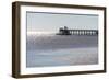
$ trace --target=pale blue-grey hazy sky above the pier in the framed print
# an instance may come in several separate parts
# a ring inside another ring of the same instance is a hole
[[[98,15],[27,12],[27,31],[58,32],[59,27],[97,30]]]

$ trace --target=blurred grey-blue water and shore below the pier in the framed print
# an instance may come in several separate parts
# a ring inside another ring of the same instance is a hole
[[[27,34],[26,67],[98,64],[97,35]]]

